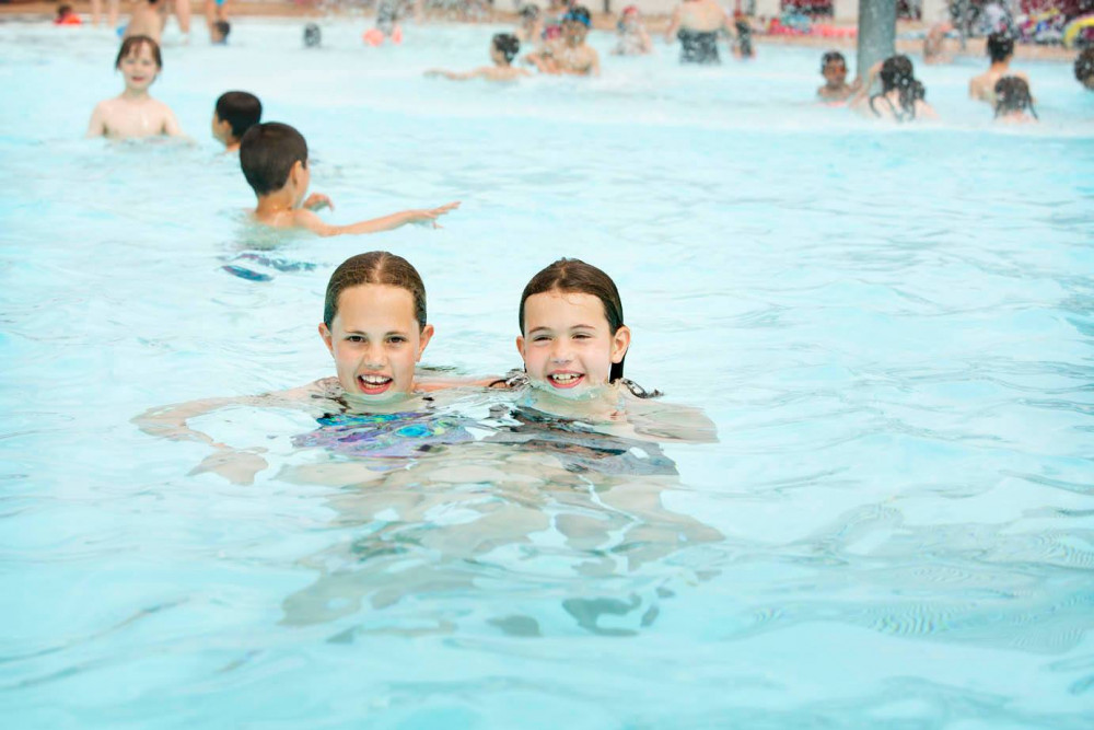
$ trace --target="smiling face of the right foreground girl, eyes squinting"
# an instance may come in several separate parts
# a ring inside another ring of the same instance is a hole
[[[592,294],[547,291],[524,302],[516,349],[528,378],[559,395],[606,385],[612,364],[630,346],[630,329],[608,329],[604,304]]]

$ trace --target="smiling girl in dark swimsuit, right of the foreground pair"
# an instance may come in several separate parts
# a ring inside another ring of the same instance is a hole
[[[592,424],[603,433],[639,439],[712,442],[701,413],[655,402],[624,378],[631,332],[612,278],[575,258],[560,258],[528,281],[517,312],[516,351],[524,370],[492,386],[523,387],[536,410]]]

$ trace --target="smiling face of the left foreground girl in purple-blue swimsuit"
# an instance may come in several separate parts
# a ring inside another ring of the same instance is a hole
[[[406,289],[365,283],[341,292],[330,327],[321,324],[319,335],[335,358],[342,390],[386,401],[414,391],[415,364],[433,325],[419,327],[414,294]]]

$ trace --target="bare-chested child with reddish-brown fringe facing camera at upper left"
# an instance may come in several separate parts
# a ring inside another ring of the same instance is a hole
[[[152,99],[148,89],[163,70],[160,45],[143,35],[121,43],[114,68],[121,71],[126,88],[121,95],[100,102],[91,114],[88,137],[135,139],[165,135],[182,137],[175,114]]]

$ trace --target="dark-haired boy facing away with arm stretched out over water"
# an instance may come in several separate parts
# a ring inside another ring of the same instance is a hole
[[[407,223],[440,228],[437,219],[459,206],[450,202],[430,210],[404,210],[350,225],[324,223],[314,211],[334,209],[334,205],[318,193],[305,198],[312,179],[307,142],[299,131],[277,121],[257,124],[247,130],[240,142],[240,166],[258,198],[252,219],[270,228],[303,229],[323,236],[379,233]]]

